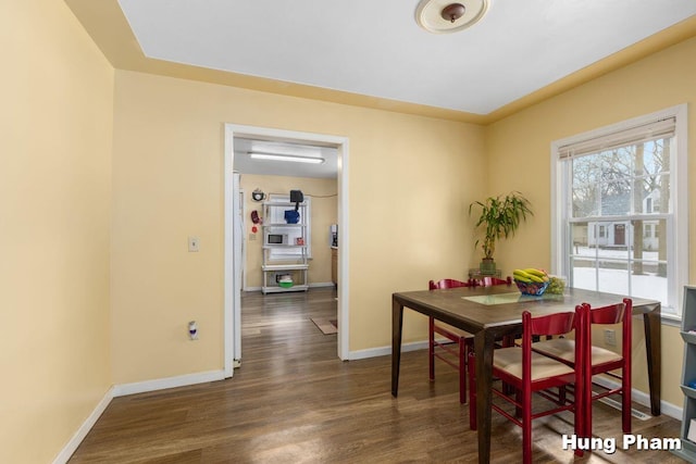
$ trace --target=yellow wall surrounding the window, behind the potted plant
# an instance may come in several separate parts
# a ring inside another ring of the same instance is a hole
[[[689,39],[632,65],[580,86],[487,127],[488,183],[492,192],[520,190],[527,195],[535,215],[518,236],[499,246],[506,268],[518,263],[550,265],[550,143],[597,127],[688,103],[689,159],[696,147],[696,39]],[[693,160],[692,160],[693,161]],[[689,198],[696,193],[696,163],[689,162]],[[694,230],[696,204],[689,204]],[[520,244],[524,243],[523,247]],[[696,241],[689,238],[689,267],[696,275]],[[647,392],[643,324],[634,334],[635,387]],[[682,405],[683,341],[675,327],[662,327],[663,400]]]

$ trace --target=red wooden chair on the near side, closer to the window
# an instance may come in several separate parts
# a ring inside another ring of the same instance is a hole
[[[631,318],[633,311],[633,300],[624,298],[623,302],[610,304],[601,308],[591,308],[583,303],[587,311],[587,317],[583,329],[585,344],[585,378],[584,391],[587,397],[584,399],[585,425],[584,436],[592,436],[592,401],[610,394],[621,394],[621,426],[624,434],[631,434]],[[619,324],[622,323],[621,353],[594,347],[592,344],[592,326],[595,324]],[[570,366],[575,362],[575,342],[569,339],[554,339],[534,343],[534,351],[551,356]],[[621,369],[621,376],[617,376],[611,371]],[[592,378],[597,374],[606,374],[621,379],[621,385],[617,388],[606,388],[598,384],[593,384]],[[593,386],[601,391],[593,392]]]

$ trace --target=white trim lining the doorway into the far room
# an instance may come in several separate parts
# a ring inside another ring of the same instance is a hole
[[[340,360],[349,358],[349,325],[348,325],[348,139],[346,137],[298,133],[256,126],[225,124],[224,140],[224,371],[225,377],[232,377],[235,363],[241,359],[241,330],[240,330],[240,292],[241,280],[238,271],[235,271],[235,242],[244,239],[245,230],[236,227],[234,211],[234,171],[235,171],[235,141],[258,140],[276,143],[294,143],[309,147],[328,147],[335,150],[337,155],[337,227],[338,237],[338,286],[337,286],[337,355]],[[249,192],[247,192],[249,195]]]

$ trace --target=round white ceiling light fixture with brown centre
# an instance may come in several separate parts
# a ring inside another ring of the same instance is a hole
[[[489,0],[421,0],[415,22],[433,34],[449,34],[473,26],[488,11]]]

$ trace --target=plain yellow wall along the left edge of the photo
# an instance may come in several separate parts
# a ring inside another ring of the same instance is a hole
[[[47,463],[112,385],[114,76],[63,2],[1,2],[0,37],[0,461]]]

